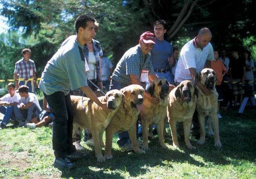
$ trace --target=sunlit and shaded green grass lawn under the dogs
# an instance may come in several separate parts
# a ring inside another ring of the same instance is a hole
[[[113,139],[113,159],[98,163],[94,149],[87,145],[83,152],[90,158],[75,162],[76,170],[52,167],[52,131],[50,128],[0,130],[0,179],[253,179],[256,178],[256,110],[245,109],[241,118],[236,111],[221,111],[221,148],[214,147],[210,137],[204,145],[192,140],[197,148],[190,151],[169,149],[156,140],[149,141],[145,154],[123,152]],[[0,116],[1,119],[1,116]],[[168,128],[169,129],[169,128]],[[170,132],[170,131],[169,131]],[[104,148],[102,148],[104,153]]]

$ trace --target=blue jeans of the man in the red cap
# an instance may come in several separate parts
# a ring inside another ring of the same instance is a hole
[[[111,80],[110,90],[113,90],[113,89],[120,90],[122,88],[125,88],[126,86],[127,86],[126,84]],[[139,125],[139,122],[137,121],[137,123],[136,123],[137,138],[138,138],[138,127],[139,127],[138,125]],[[119,147],[122,147],[123,145],[128,144],[128,143],[131,144],[131,139],[129,137],[128,131],[123,131],[123,132],[117,133],[117,135],[118,135],[118,139],[117,139],[116,143],[118,144]]]

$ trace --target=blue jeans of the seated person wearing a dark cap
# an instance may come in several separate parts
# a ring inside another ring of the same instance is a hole
[[[41,111],[35,103],[33,103],[27,109],[20,109],[18,106],[19,105],[15,105],[13,108],[16,121],[24,122],[27,120],[28,122],[31,122],[32,118],[41,114]]]

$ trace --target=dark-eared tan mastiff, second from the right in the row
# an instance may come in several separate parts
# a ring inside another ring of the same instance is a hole
[[[169,94],[167,115],[172,131],[173,146],[175,148],[180,147],[177,139],[176,122],[183,122],[186,146],[189,149],[195,149],[189,141],[189,134],[197,98],[198,90],[195,88],[193,82],[189,80],[181,82]]]

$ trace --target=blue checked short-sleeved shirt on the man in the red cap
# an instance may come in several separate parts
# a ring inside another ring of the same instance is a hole
[[[142,70],[148,70],[148,75],[154,73],[151,63],[151,54],[143,54],[140,45],[130,48],[122,56],[111,76],[112,80],[126,85],[132,85],[130,75],[140,77]]]

